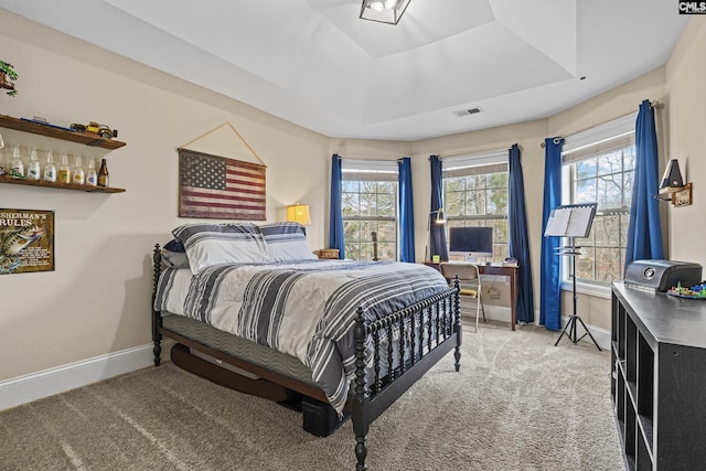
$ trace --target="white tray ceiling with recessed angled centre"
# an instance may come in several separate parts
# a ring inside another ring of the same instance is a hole
[[[552,116],[663,65],[688,19],[667,0],[411,0],[398,25],[360,20],[361,0],[0,8],[327,136],[391,140]]]

